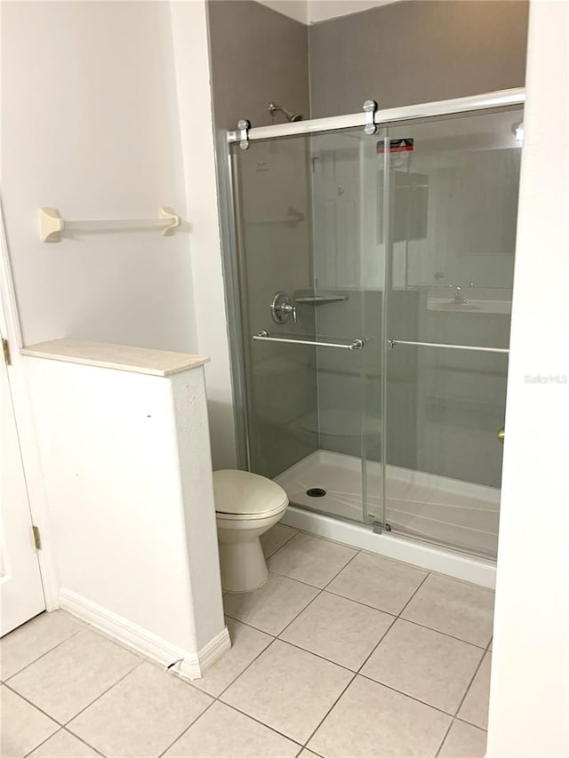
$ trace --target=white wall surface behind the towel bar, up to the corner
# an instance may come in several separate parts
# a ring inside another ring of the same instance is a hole
[[[188,227],[46,244],[36,220],[43,205],[68,219],[185,205],[170,4],[2,3],[2,184],[27,344],[196,352]]]

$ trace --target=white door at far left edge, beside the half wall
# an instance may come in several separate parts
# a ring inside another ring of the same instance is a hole
[[[2,448],[0,458],[0,636],[45,610],[32,532],[8,369],[0,354]]]

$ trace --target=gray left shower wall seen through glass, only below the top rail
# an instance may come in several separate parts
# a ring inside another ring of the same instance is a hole
[[[309,310],[277,324],[270,309],[276,292],[293,298],[312,282],[308,155],[303,138],[233,150],[248,459],[271,479],[317,450],[317,435],[301,423],[317,407],[315,349],[252,339],[263,330],[314,336]]]

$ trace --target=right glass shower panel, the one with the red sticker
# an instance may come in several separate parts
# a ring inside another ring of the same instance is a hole
[[[389,135],[413,149],[389,168],[387,520],[488,557],[508,354],[463,348],[509,346],[521,119],[509,110]]]

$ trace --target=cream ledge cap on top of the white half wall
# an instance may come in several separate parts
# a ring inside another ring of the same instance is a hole
[[[108,342],[85,342],[83,339],[53,339],[20,349],[20,355],[47,358],[52,361],[83,363],[116,371],[134,371],[157,377],[168,377],[209,363],[204,355],[151,350],[146,347],[112,345]]]

